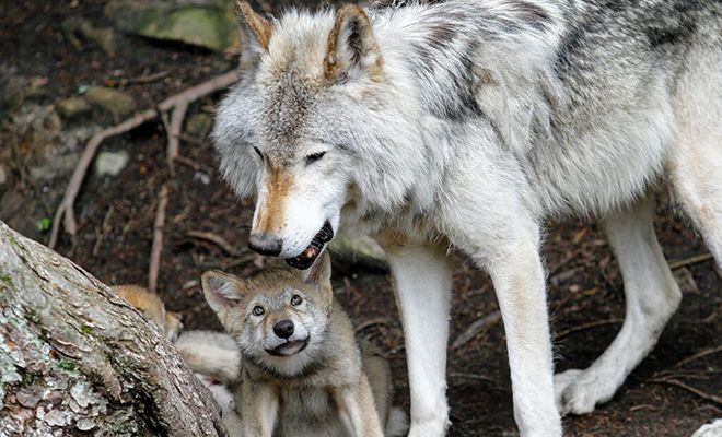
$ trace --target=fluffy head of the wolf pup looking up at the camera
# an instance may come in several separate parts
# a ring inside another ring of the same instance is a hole
[[[208,271],[202,288],[244,359],[283,377],[321,359],[334,295],[327,253],[304,272],[271,269],[240,279]]]

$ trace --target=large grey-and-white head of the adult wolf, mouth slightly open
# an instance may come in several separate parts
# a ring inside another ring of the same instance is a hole
[[[307,269],[351,200],[372,214],[408,196],[422,155],[414,118],[399,116],[412,93],[392,86],[398,69],[356,5],[269,22],[242,2],[237,16],[241,79],[213,130],[220,169],[236,193],[258,196],[249,247]],[[387,153],[398,149],[410,153]]]

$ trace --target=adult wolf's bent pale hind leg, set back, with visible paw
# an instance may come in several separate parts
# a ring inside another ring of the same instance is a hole
[[[617,338],[592,366],[555,377],[561,413],[590,413],[612,399],[679,306],[682,293],[654,235],[653,210],[652,199],[641,199],[601,223],[625,281],[627,316]]]

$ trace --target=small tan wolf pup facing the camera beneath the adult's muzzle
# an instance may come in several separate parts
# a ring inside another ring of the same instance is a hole
[[[202,288],[241,350],[244,437],[399,435],[388,364],[357,343],[334,297],[328,255],[305,273],[209,271]]]

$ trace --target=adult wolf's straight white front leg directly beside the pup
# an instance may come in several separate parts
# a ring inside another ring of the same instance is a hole
[[[449,425],[446,343],[451,274],[431,248],[387,248],[404,324],[411,391],[409,437],[440,437]]]

